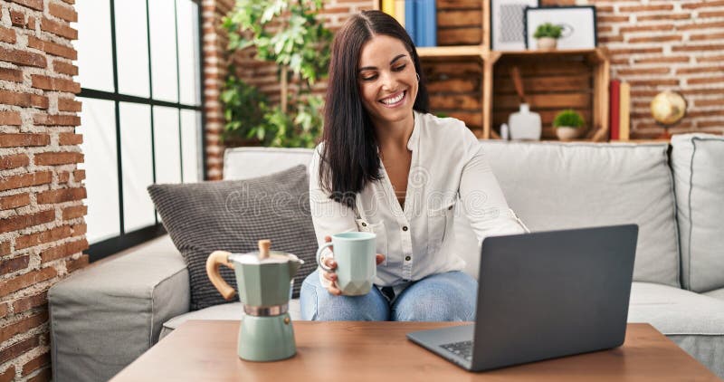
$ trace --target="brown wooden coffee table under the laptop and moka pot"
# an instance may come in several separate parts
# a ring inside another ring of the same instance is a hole
[[[295,357],[248,362],[236,356],[238,321],[190,320],[112,381],[719,380],[648,324],[629,324],[618,349],[481,373],[405,338],[409,331],[450,325],[461,323],[295,321]]]

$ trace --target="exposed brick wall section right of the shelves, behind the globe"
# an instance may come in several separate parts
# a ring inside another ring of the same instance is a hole
[[[611,78],[631,83],[633,137],[661,135],[650,102],[679,91],[687,117],[669,129],[724,133],[724,1],[588,1],[599,41],[612,53]]]

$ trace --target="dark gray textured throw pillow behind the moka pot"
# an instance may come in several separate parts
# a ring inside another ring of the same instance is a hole
[[[148,193],[188,265],[192,310],[226,302],[206,276],[206,258],[214,251],[252,252],[258,240],[271,239],[272,250],[294,253],[305,262],[295,277],[294,297],[317,267],[304,166],[252,179],[153,185]],[[236,289],[233,271],[221,268]]]

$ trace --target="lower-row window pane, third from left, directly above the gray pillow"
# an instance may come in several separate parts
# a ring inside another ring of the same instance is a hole
[[[156,183],[181,183],[181,148],[178,141],[178,110],[153,108]]]

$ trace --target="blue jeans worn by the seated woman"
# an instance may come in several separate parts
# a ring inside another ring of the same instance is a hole
[[[364,296],[335,296],[321,286],[319,270],[301,284],[302,320],[472,321],[478,282],[463,272],[433,274],[390,302],[373,287]]]

